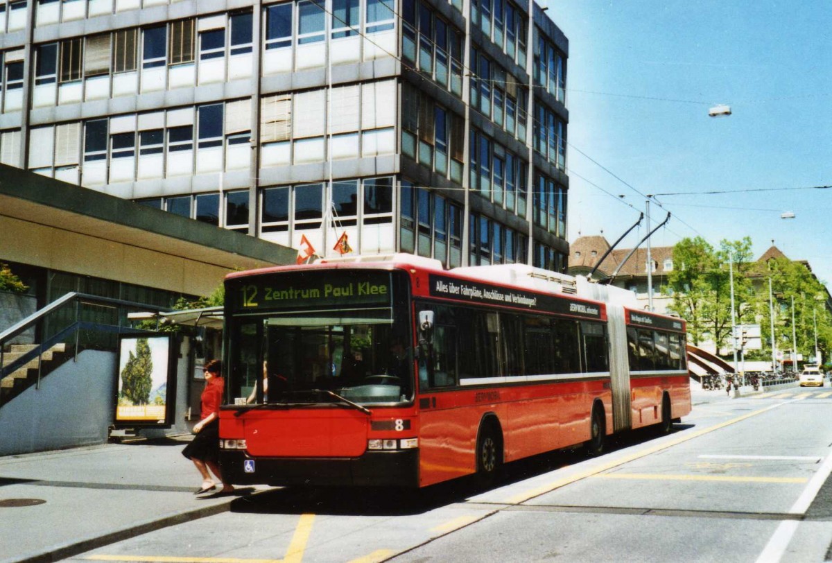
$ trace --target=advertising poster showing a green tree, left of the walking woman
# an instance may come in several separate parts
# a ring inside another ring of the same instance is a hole
[[[116,371],[116,424],[169,424],[168,404],[176,394],[171,379],[171,337],[123,335]]]

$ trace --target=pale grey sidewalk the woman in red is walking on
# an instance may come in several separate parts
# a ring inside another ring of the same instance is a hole
[[[57,561],[229,510],[239,496],[193,494],[189,439],[0,457],[0,563]]]

